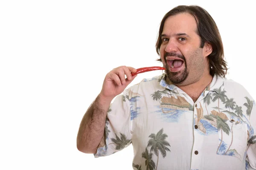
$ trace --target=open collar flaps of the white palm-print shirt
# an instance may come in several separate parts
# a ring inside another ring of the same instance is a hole
[[[179,91],[182,91],[180,88],[178,88],[176,85],[167,83],[166,82],[166,74],[162,74],[162,76],[160,77],[160,85],[163,86],[164,88],[168,88],[169,90],[178,93]],[[220,77],[218,75],[214,75],[212,78],[212,82],[205,88],[204,90],[204,94],[205,92],[209,92],[209,91],[215,91],[216,93],[219,93],[218,88],[220,88],[222,85],[224,85],[224,79],[223,77]]]

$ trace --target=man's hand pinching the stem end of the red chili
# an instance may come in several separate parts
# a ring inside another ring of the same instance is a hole
[[[135,68],[126,66],[114,68],[106,75],[99,96],[112,100],[115,96],[121,94],[137,76],[137,74],[131,76],[131,72],[136,73],[136,71]]]

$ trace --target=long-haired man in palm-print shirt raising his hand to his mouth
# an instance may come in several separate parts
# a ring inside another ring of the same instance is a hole
[[[106,75],[81,121],[78,149],[99,157],[132,143],[134,170],[256,169],[255,101],[225,78],[221,36],[208,12],[173,8],[156,50],[165,74],[126,90],[135,68]]]

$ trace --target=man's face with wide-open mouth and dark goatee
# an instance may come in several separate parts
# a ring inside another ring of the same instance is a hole
[[[181,13],[168,17],[161,39],[160,57],[172,83],[189,85],[203,77],[208,60],[204,48],[200,48],[200,37],[192,15]]]

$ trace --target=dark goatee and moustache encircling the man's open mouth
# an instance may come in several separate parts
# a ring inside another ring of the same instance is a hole
[[[185,69],[183,71],[179,71],[179,72],[172,72],[169,70],[169,65],[167,64],[167,60],[166,57],[168,56],[174,56],[174,57],[178,57],[180,59],[183,59],[184,64],[185,64]],[[166,68],[166,75],[167,78],[175,85],[179,85],[182,82],[184,82],[186,80],[186,78],[189,75],[189,72],[187,70],[187,65],[186,65],[186,59],[182,54],[177,54],[175,52],[171,52],[171,53],[166,53],[164,55],[164,61],[165,61],[165,65],[164,67]]]

